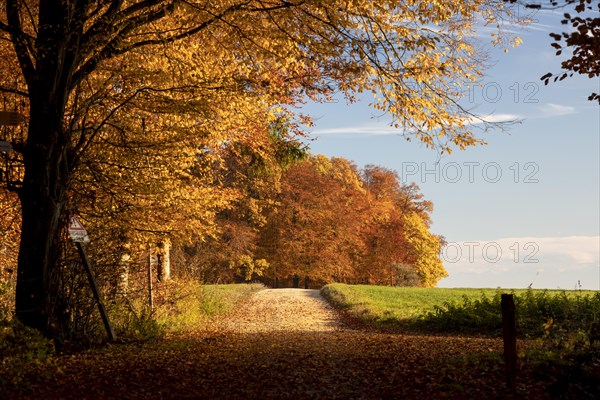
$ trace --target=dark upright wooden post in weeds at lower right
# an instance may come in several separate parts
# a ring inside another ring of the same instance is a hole
[[[517,326],[515,301],[512,294],[503,294],[502,336],[504,338],[504,365],[506,367],[506,388],[514,394],[517,379]]]

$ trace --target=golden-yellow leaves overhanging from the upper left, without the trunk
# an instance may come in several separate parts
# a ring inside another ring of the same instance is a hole
[[[21,3],[6,3],[19,18],[0,16],[0,92],[27,114],[37,104],[35,82],[50,76],[36,74],[57,66],[57,92],[43,94],[68,101],[53,145],[23,133],[10,138],[15,152],[47,149],[56,165],[68,164],[69,211],[92,237],[132,248],[166,236],[217,237],[216,216],[244,196],[216,173],[226,168],[224,154],[246,147],[268,157],[273,123],[291,121],[290,135],[310,126],[298,112],[308,99],[370,91],[375,109],[428,147],[481,143],[459,106],[461,88],[481,76],[475,21],[499,24],[505,12],[501,0],[68,2],[68,12],[52,15],[65,19],[59,32],[40,25],[49,17],[39,15],[41,2]],[[44,32],[55,36],[37,37]],[[55,145],[65,151],[50,154]],[[364,192],[354,165],[312,162],[343,193]],[[266,223],[269,206],[259,203],[245,205],[255,226]],[[423,271],[434,272],[425,276],[438,276],[427,263]]]

